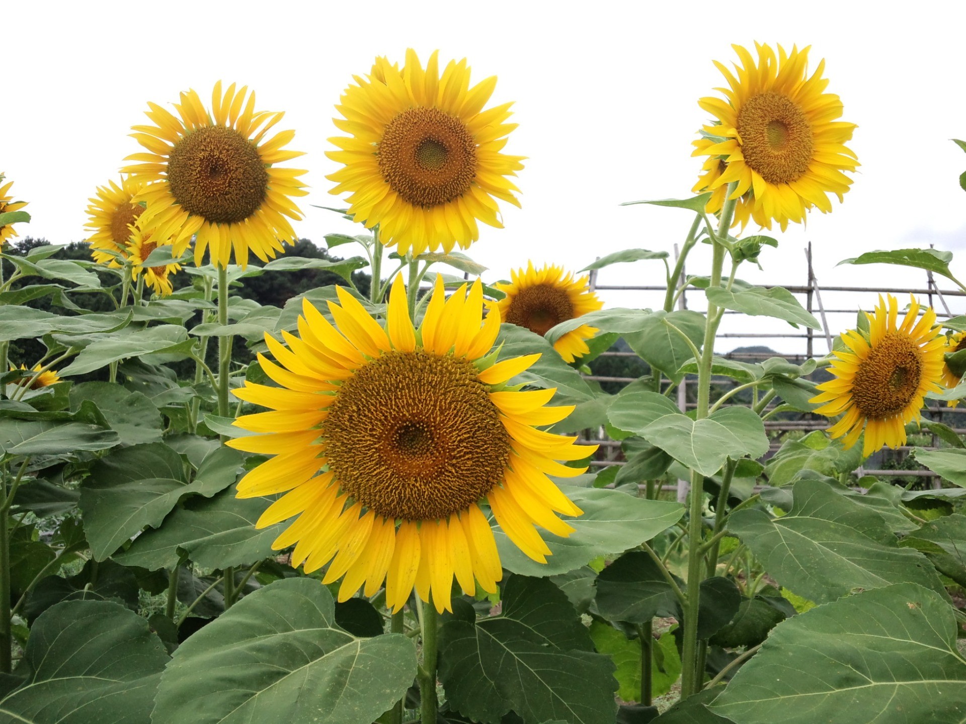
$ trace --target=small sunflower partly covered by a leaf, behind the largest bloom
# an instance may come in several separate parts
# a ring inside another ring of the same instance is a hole
[[[491,309],[499,310],[500,319],[541,336],[561,321],[582,317],[604,306],[597,294],[590,291],[588,277],[575,280],[573,274],[564,274],[561,266],[534,269],[533,263],[528,262],[526,269],[510,271],[510,284],[495,286],[506,294],[498,302],[490,302]],[[590,351],[584,340],[597,331],[582,324],[554,342],[554,349],[567,362],[573,362]]]

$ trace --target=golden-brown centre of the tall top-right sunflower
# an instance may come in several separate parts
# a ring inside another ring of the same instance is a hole
[[[802,178],[811,163],[811,125],[791,98],[779,93],[750,97],[738,112],[741,153],[769,183]]]

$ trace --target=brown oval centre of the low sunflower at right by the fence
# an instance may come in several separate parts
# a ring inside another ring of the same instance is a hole
[[[922,376],[922,350],[908,335],[891,332],[859,365],[852,400],[869,420],[891,417],[916,396]]]

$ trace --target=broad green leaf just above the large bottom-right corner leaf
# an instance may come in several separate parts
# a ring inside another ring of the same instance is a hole
[[[799,481],[793,495],[787,515],[745,510],[728,518],[728,530],[782,586],[816,603],[900,582],[943,591],[928,561],[900,548],[881,515],[820,481]]]

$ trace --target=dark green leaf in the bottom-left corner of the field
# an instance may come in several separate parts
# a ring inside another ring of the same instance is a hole
[[[167,660],[136,613],[107,601],[60,603],[35,622],[17,667],[27,681],[0,701],[0,717],[31,724],[147,724]]]

